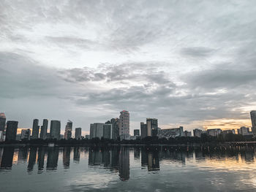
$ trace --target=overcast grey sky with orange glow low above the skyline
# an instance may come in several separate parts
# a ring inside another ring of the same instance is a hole
[[[255,0],[0,0],[0,111],[84,133],[121,110],[131,133],[251,126],[255,31]]]

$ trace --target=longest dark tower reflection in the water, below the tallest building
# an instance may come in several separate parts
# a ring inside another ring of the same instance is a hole
[[[119,155],[120,180],[129,180],[129,148],[121,147]]]

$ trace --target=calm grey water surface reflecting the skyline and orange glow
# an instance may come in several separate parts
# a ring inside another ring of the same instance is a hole
[[[255,191],[255,149],[0,147],[4,191]],[[36,190],[35,190],[36,189]]]

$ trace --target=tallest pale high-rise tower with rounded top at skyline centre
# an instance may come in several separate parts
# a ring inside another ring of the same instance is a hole
[[[120,139],[129,139],[129,112],[123,110],[119,116],[119,136]]]

